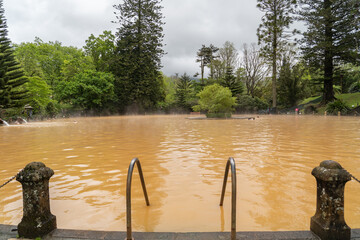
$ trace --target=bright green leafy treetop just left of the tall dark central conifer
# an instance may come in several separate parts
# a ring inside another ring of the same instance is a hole
[[[91,34],[85,42],[85,53],[91,56],[95,69],[101,72],[110,71],[114,61],[115,35],[111,31],[104,31],[98,37]]]

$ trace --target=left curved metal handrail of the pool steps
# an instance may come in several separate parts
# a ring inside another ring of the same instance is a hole
[[[138,158],[134,158],[131,160],[128,170],[128,177],[126,183],[126,240],[133,240],[132,238],[132,228],[131,228],[131,180],[132,180],[132,173],[134,171],[135,163],[139,170],[141,185],[144,191],[145,202],[146,205],[149,206],[149,198],[146,191],[145,180],[141,169],[140,160]]]

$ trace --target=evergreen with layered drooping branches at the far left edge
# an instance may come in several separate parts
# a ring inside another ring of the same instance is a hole
[[[20,107],[26,99],[26,91],[21,86],[27,78],[15,59],[7,34],[3,1],[0,0],[0,109]]]

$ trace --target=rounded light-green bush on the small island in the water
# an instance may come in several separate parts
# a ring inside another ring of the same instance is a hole
[[[232,97],[230,89],[219,84],[206,86],[197,96],[199,105],[193,107],[195,112],[231,113],[236,105],[236,97]]]

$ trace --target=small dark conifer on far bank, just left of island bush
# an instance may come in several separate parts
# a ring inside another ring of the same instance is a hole
[[[180,78],[177,79],[175,91],[177,106],[184,110],[190,110],[193,84],[189,75],[184,73]]]

